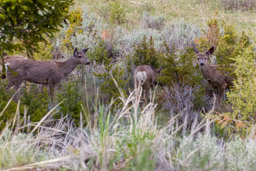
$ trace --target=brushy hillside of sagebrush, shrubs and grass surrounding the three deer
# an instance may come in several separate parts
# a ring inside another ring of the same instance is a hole
[[[255,170],[255,10],[254,0],[75,0],[30,46],[0,37],[1,53],[64,60],[88,47],[91,62],[56,88],[54,107],[47,89],[26,83],[16,100],[0,79],[0,170]],[[193,44],[215,47],[210,63],[234,78],[219,108]],[[161,68],[147,103],[138,65]]]

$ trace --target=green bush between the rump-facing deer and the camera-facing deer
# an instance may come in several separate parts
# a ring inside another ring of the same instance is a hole
[[[201,74],[198,74],[200,71],[198,70],[198,67],[194,65],[194,51],[191,48],[188,48],[187,52],[179,53],[175,50],[171,50],[166,43],[164,43],[163,46],[166,48],[166,53],[164,54],[164,58],[162,60],[163,70],[161,71],[159,81],[168,87],[175,87],[174,89],[170,88],[170,92],[168,92],[175,96],[175,98],[181,97],[176,97],[176,93],[178,92],[177,89],[179,89],[176,87],[176,85],[178,85],[180,88],[183,86],[193,87],[193,98],[191,100],[193,100],[195,105],[194,107],[202,107],[204,104],[203,96],[205,93],[202,86],[203,77]],[[188,89],[186,88],[186,90]],[[184,90],[183,93],[187,92],[186,90]],[[189,97],[186,96],[186,98]],[[172,100],[176,101],[175,99]],[[168,101],[166,103],[169,104],[172,102]],[[183,107],[185,108],[185,106]]]

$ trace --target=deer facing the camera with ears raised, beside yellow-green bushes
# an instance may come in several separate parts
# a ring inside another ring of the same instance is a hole
[[[211,47],[206,53],[200,53],[193,44],[194,51],[197,54],[197,62],[199,68],[208,81],[208,83],[218,90],[217,107],[220,107],[225,89],[232,86],[233,78],[228,74],[224,74],[217,69],[217,65],[210,65],[208,62],[209,56],[213,54],[214,47]]]

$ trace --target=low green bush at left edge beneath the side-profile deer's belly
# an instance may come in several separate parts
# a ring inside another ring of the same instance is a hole
[[[12,91],[6,91],[5,87],[6,84],[1,81],[0,84],[0,111],[3,110],[7,102],[11,98],[11,94],[14,94]],[[38,122],[40,121],[48,111],[48,93],[46,90],[43,91],[43,93],[39,92],[37,89],[37,85],[32,84],[30,86],[27,86],[27,88],[22,87],[21,88],[21,95],[20,95],[20,106],[19,109],[17,108],[17,104],[12,101],[3,115],[0,117],[0,130],[2,130],[6,123],[11,124],[11,121],[14,119],[14,116],[16,114],[16,111],[18,110],[18,117],[22,118],[26,115],[28,117],[27,122]],[[26,108],[27,110],[24,110]],[[26,111],[26,113],[25,113]],[[25,122],[24,120],[22,122]],[[21,123],[18,123],[21,124]]]

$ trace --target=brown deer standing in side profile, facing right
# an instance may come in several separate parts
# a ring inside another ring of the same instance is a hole
[[[17,90],[23,81],[49,85],[53,103],[54,88],[56,84],[71,73],[78,64],[90,64],[87,58],[85,58],[87,50],[88,48],[78,51],[77,48],[75,48],[73,55],[64,62],[35,61],[25,58],[14,58],[14,60],[6,63],[6,66],[16,73],[13,74],[13,72],[7,70],[7,79],[9,82],[6,88],[8,90],[14,86]]]

